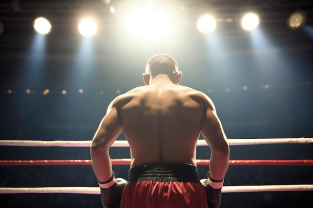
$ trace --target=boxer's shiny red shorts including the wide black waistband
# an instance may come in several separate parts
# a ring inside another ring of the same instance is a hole
[[[128,172],[120,208],[207,208],[196,166],[148,164]]]

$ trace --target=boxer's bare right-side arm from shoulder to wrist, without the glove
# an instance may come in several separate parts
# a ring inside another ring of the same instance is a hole
[[[205,99],[201,134],[211,149],[209,176],[219,181],[224,178],[228,169],[229,146],[213,102],[206,95]]]

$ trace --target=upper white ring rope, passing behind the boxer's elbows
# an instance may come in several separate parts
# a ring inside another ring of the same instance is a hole
[[[231,146],[263,144],[305,144],[313,143],[313,138],[272,138],[272,139],[228,139]],[[21,147],[90,147],[91,141],[39,141],[39,140],[0,140],[0,146]],[[207,146],[205,140],[197,141],[197,146]],[[111,147],[129,147],[125,140],[116,140]]]

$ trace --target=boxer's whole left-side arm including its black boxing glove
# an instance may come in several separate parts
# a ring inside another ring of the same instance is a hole
[[[98,179],[101,203],[104,208],[119,208],[121,195],[127,184],[124,179],[115,180],[108,154],[109,147],[122,131],[118,109],[114,105],[115,100],[109,104],[90,147],[92,169]]]

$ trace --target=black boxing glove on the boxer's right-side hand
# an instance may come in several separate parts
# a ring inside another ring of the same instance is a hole
[[[221,201],[221,187],[223,185],[223,180],[215,181],[209,177],[207,173],[207,179],[201,179],[200,182],[205,189],[206,201],[208,208],[218,208]],[[211,185],[214,186],[212,188]],[[218,187],[218,188],[217,188]],[[219,188],[220,187],[220,188]]]

